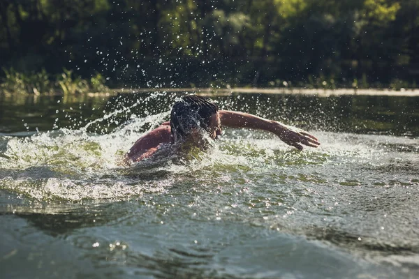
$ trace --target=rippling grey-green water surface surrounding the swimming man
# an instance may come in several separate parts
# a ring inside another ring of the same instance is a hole
[[[175,98],[1,100],[5,278],[419,276],[419,98],[217,97],[321,147],[226,129],[189,161],[121,165]]]

